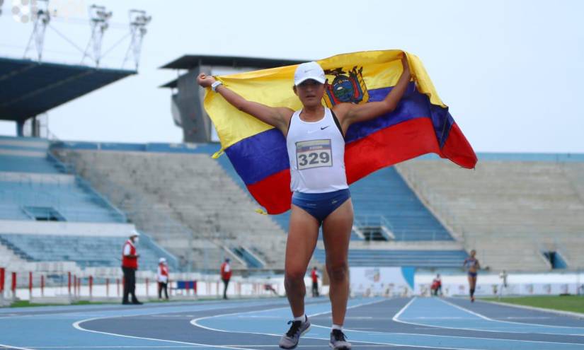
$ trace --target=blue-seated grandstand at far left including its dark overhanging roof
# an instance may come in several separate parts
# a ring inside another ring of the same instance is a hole
[[[0,119],[16,122],[16,137],[0,136],[0,243],[3,267],[79,271],[118,269],[120,241],[134,225],[49,151],[35,116],[135,71],[0,58]],[[174,257],[145,238],[144,266]]]

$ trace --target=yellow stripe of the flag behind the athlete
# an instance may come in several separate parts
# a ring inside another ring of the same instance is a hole
[[[365,51],[350,54],[338,54],[321,59],[319,64],[327,69],[350,70],[353,67],[363,67],[362,76],[368,89],[387,88],[395,86],[401,76],[401,50]],[[407,53],[408,64],[418,91],[430,97],[430,103],[446,107],[437,92],[420,59]],[[246,100],[263,103],[272,107],[290,107],[292,110],[302,108],[302,103],[294,95],[294,71],[297,66],[283,66],[272,69],[262,69],[229,76],[220,76],[219,80],[227,88],[238,93]],[[332,82],[334,76],[328,76]],[[211,117],[221,140],[222,148],[236,144],[242,139],[272,129],[268,124],[260,122],[227,103],[218,93],[207,89],[205,94],[205,110]]]

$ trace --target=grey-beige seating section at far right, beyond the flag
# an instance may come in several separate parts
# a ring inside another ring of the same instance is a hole
[[[475,170],[432,160],[398,169],[466,250],[477,250],[483,267],[546,271],[544,252],[583,267],[584,158],[536,156],[491,155]]]

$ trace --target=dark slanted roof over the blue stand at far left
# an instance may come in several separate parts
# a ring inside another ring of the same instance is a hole
[[[0,57],[0,119],[22,122],[136,73]]]

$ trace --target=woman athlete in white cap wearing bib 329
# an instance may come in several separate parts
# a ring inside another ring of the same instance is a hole
[[[391,112],[406,91],[411,78],[405,54],[403,72],[387,97],[379,102],[355,105],[339,103],[324,107],[326,76],[316,62],[300,64],[294,73],[294,93],[302,109],[269,107],[248,101],[212,76],[200,74],[197,83],[211,87],[239,110],[272,125],[284,134],[290,159],[292,213],[285,256],[285,288],[294,320],[280,339],[282,349],[294,349],[310,327],[304,313],[304,274],[310,262],[319,227],[322,225],[326,271],[331,285],[333,326],[329,345],[350,349],[343,334],[349,293],[348,247],[353,226],[353,204],[345,175],[345,133],[349,126]]]

